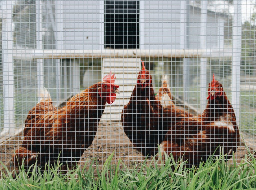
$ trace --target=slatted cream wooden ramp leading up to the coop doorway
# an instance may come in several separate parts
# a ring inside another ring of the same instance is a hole
[[[120,86],[120,94],[117,94],[115,102],[111,105],[106,105],[105,111],[101,117],[103,121],[120,121],[121,112],[124,105],[130,100],[140,69],[140,58],[102,59],[102,78],[111,70],[116,76],[115,84]]]

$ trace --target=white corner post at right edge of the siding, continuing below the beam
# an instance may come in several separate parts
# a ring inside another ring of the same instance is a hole
[[[180,1],[180,49],[188,49],[188,11],[189,1]],[[182,61],[180,61],[182,63]],[[181,87],[181,84],[179,84]],[[180,96],[181,92],[177,93]],[[183,58],[183,96],[184,100],[188,99],[189,95],[189,60]]]

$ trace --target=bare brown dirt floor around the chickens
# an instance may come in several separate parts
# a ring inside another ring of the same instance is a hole
[[[1,145],[1,161],[8,169],[13,170],[10,166],[10,158],[14,150],[21,144],[23,137],[15,136],[12,140],[7,140]],[[78,164],[84,166],[88,158],[95,158],[101,168],[106,159],[114,152],[112,163],[117,163],[119,159],[123,160],[126,166],[134,166],[141,163],[145,157],[133,147],[128,137],[123,132],[122,124],[119,122],[99,123],[98,132],[92,145],[84,152]],[[235,153],[235,161],[240,163],[246,154],[243,146],[239,147]],[[233,162],[231,158],[229,163]],[[90,162],[89,162],[90,163]],[[86,165],[88,166],[87,163]],[[94,163],[95,165],[96,163]],[[2,169],[3,170],[3,169]]]

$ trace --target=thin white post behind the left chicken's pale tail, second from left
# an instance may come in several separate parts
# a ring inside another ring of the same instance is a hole
[[[43,19],[42,19],[42,1],[36,1],[36,42],[37,49],[44,49],[43,45]],[[44,89],[44,59],[37,60],[37,87],[38,89]],[[38,101],[40,100],[40,96],[38,96]]]

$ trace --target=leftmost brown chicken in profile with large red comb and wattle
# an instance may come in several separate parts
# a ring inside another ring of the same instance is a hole
[[[76,164],[95,137],[105,104],[113,103],[115,93],[119,93],[114,82],[115,76],[110,72],[61,109],[52,105],[48,92],[44,93],[46,97],[29,111],[22,147],[13,155],[14,166],[20,166],[23,160],[25,169],[36,160],[43,166],[47,161],[55,162],[58,156],[64,171]]]

